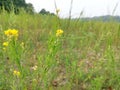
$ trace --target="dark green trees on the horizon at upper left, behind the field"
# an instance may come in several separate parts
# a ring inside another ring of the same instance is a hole
[[[0,0],[0,11],[4,9],[8,13],[14,11],[15,14],[19,14],[21,8],[27,13],[35,13],[33,5],[31,3],[26,3],[25,0]],[[55,15],[54,13],[50,13],[45,9],[42,9],[39,14]]]

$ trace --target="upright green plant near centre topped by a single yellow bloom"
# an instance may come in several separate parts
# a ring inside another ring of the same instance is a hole
[[[49,71],[53,72],[54,74],[57,73],[55,72],[55,68],[59,65],[59,63],[61,63],[60,59],[57,59],[57,57],[59,57],[58,56],[59,51],[62,50],[63,33],[64,31],[62,29],[57,29],[53,33],[50,33],[47,43],[48,45],[47,53],[44,57],[44,63],[40,60],[41,64],[43,63],[47,68],[46,73],[49,73]],[[34,67],[33,69],[36,70],[36,67]],[[45,78],[49,77],[52,80],[52,77],[50,77],[49,74],[46,76],[44,76],[43,74],[43,76],[41,77],[45,77]]]

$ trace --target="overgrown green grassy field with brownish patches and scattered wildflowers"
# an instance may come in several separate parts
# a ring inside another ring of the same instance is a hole
[[[1,13],[0,90],[120,90],[120,23]]]

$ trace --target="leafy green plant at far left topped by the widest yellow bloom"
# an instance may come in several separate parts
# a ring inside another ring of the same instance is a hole
[[[12,62],[18,65],[19,70],[21,71],[21,58],[24,51],[24,43],[19,42],[18,36],[19,32],[16,29],[8,29],[4,31],[5,41],[3,42],[3,50],[10,58]],[[14,71],[14,75],[19,76],[20,72]]]

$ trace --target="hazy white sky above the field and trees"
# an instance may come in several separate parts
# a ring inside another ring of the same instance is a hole
[[[37,12],[42,8],[50,12],[55,12],[54,0],[26,0],[26,2],[32,3]],[[69,15],[70,2],[71,0],[56,0],[61,17]],[[73,0],[72,17],[78,17],[81,11],[84,12],[84,17],[111,15],[117,3],[118,6],[114,15],[120,15],[119,2],[120,0]]]

